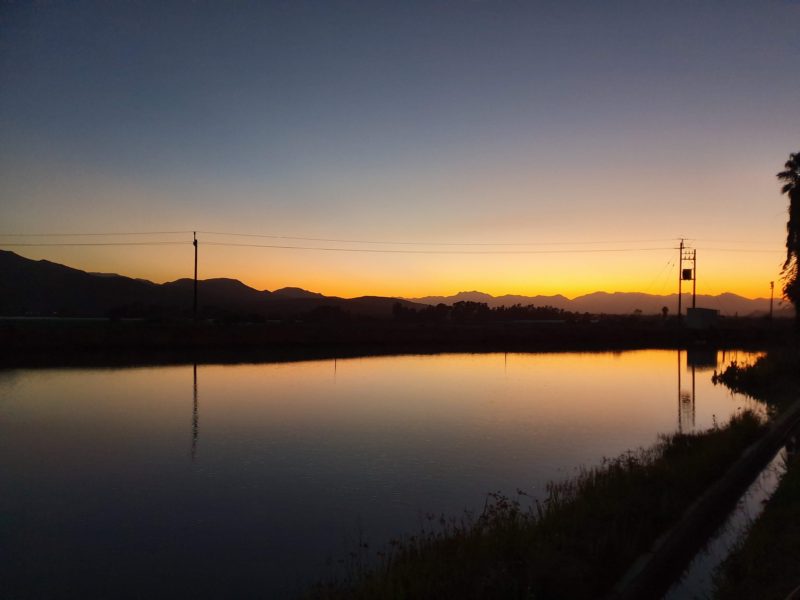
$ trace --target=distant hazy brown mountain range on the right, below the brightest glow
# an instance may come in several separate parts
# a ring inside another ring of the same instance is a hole
[[[521,304],[527,306],[552,306],[577,313],[594,314],[632,314],[640,310],[643,314],[660,314],[662,307],[666,306],[670,314],[677,311],[678,294],[657,296],[639,292],[594,292],[584,296],[569,298],[556,296],[518,296],[507,294],[504,296],[491,296],[483,292],[459,292],[453,296],[425,296],[424,298],[408,298],[420,304],[453,304],[455,302],[484,302],[490,307],[513,306]],[[683,308],[691,306],[691,295],[684,294]],[[713,308],[723,315],[760,316],[769,312],[769,298],[744,298],[736,294],[724,293],[718,296],[697,295],[697,306],[700,308]],[[780,313],[780,315],[779,315]],[[783,314],[785,313],[785,315]],[[775,299],[775,314],[777,316],[791,316],[791,306]]]

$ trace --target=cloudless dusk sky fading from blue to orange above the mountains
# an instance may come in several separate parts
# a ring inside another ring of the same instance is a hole
[[[0,0],[0,248],[162,282],[198,231],[200,278],[258,289],[574,297],[674,293],[685,238],[698,293],[765,297],[798,22],[797,0]]]

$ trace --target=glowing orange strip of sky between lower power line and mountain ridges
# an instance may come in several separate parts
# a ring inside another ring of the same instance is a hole
[[[45,259],[89,272],[119,273],[156,283],[192,277],[192,248],[95,249],[52,248],[20,251],[27,258]],[[60,256],[56,256],[56,254]],[[200,279],[238,279],[258,290],[299,287],[326,296],[352,298],[387,296],[419,298],[479,291],[493,296],[553,296],[570,299],[594,292],[639,292],[672,295],[677,292],[677,269],[672,252],[614,256],[587,255],[434,256],[420,261],[407,255],[348,255],[306,252],[253,253],[240,249],[200,247]],[[775,281],[780,299],[780,260],[776,254],[699,254],[699,295],[730,292],[745,298],[769,297]],[[683,291],[691,293],[691,282]]]

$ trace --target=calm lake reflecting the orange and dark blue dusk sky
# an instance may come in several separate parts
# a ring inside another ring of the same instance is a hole
[[[762,407],[742,352],[0,370],[10,597],[292,597],[359,537]],[[333,563],[333,565],[329,564]]]

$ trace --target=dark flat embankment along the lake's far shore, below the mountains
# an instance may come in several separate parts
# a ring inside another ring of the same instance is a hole
[[[693,331],[677,320],[606,317],[586,322],[219,323],[0,319],[6,367],[248,363],[449,352],[602,352],[637,349],[764,350],[791,334],[786,321],[731,319]]]

